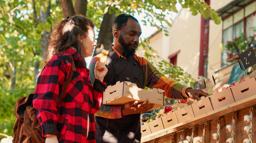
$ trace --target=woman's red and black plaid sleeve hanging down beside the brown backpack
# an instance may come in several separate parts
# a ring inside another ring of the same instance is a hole
[[[42,136],[47,134],[57,135],[57,108],[59,87],[65,79],[67,67],[70,71],[71,64],[64,65],[61,60],[47,63],[37,79],[33,106],[36,109],[37,119],[42,127]],[[66,67],[67,66],[67,67]]]

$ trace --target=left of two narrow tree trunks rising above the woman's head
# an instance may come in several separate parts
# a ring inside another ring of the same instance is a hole
[[[60,0],[60,5],[63,13],[63,17],[67,18],[68,16],[75,15],[75,11],[73,8],[73,3],[71,0]]]

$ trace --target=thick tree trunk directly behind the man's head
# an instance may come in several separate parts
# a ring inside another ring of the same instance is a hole
[[[97,39],[97,46],[94,55],[97,55],[105,50],[109,50],[113,43],[112,22],[115,20],[115,13],[110,14],[107,11],[100,25],[99,37]]]

